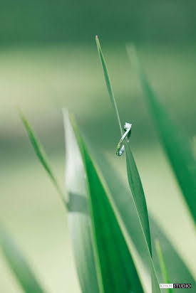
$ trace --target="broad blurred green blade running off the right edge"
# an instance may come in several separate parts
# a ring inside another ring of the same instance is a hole
[[[175,124],[150,87],[134,48],[128,48],[128,54],[138,72],[160,140],[196,223],[196,161],[192,146],[182,127]]]

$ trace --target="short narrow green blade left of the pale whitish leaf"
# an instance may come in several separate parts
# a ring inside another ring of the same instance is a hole
[[[48,176],[50,177],[51,181],[53,182],[53,185],[56,187],[56,190],[58,191],[59,195],[61,196],[61,199],[63,200],[63,203],[65,203],[65,198],[63,196],[63,191],[61,191],[61,188],[58,184],[58,181],[56,180],[56,177],[53,174],[53,171],[51,169],[50,164],[48,163],[48,158],[46,156],[45,151],[43,150],[43,147],[41,146],[41,143],[38,141],[38,138],[36,137],[36,134],[33,132],[33,129],[31,128],[31,125],[29,124],[28,120],[26,119],[25,115],[21,110],[19,110],[19,115],[21,117],[21,120],[24,124],[24,127],[26,128],[26,132],[29,136],[31,145],[33,146],[33,149],[36,153],[36,156],[38,157],[39,161],[41,161],[41,164],[43,168],[46,170]]]

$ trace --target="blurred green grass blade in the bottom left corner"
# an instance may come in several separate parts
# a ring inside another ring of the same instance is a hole
[[[24,255],[22,254],[19,247],[14,243],[14,240],[10,237],[9,233],[7,233],[4,226],[0,223],[0,246],[2,251],[4,252],[4,256],[11,268],[12,272],[21,284],[21,287],[24,289],[26,293],[43,293],[43,289],[38,283],[31,267],[29,267],[28,263]]]

